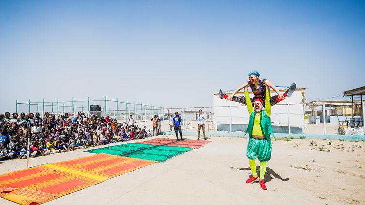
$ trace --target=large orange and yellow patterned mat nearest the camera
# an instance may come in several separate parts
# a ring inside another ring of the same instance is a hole
[[[0,176],[0,197],[22,205],[45,203],[156,161],[97,154]]]

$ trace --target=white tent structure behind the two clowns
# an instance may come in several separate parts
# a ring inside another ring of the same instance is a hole
[[[281,92],[287,88],[278,87]],[[232,91],[226,91],[231,94]],[[250,91],[250,97],[254,95]],[[243,96],[238,92],[235,96]],[[276,95],[274,91],[271,96]],[[218,94],[213,96],[214,123],[217,131],[246,131],[249,123],[249,112],[244,104],[220,99]],[[271,121],[274,133],[303,133],[304,128],[305,88],[296,89],[292,96],[285,98],[272,107]]]

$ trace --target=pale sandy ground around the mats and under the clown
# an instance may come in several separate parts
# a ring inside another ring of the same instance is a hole
[[[331,145],[320,139],[273,141],[272,159],[265,175],[268,190],[265,191],[258,183],[245,183],[251,174],[245,154],[247,138],[212,137],[209,140],[212,142],[200,149],[46,204],[365,204],[364,141],[332,140]],[[92,155],[83,151],[30,159],[30,165]],[[257,160],[256,163],[259,164]],[[0,174],[25,166],[24,159],[4,161],[0,164]],[[0,204],[14,203],[0,198]]]

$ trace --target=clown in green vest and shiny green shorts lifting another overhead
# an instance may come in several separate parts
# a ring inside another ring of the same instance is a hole
[[[270,105],[270,87],[266,85],[265,93],[265,109],[264,103],[260,98],[253,101],[254,107],[251,106],[250,95],[247,87],[245,87],[245,97],[247,110],[250,114],[249,125],[246,134],[249,134],[249,143],[247,144],[246,155],[249,158],[249,164],[252,171],[251,177],[246,183],[259,181],[262,189],[266,190],[264,176],[266,172],[266,162],[271,158],[271,139],[273,128],[271,127],[271,105]],[[260,177],[257,176],[255,159],[260,161]]]

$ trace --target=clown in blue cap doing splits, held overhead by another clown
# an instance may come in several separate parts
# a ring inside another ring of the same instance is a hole
[[[290,97],[293,94],[293,92],[296,90],[296,87],[297,87],[296,84],[293,83],[289,87],[289,89],[284,94],[282,94],[279,91],[279,89],[277,89],[276,86],[274,86],[273,83],[271,83],[270,81],[268,81],[266,79],[260,80],[259,77],[260,77],[260,73],[256,70],[252,70],[249,73],[249,81],[247,81],[241,87],[237,88],[231,95],[226,95],[222,92],[222,90],[219,90],[219,98],[221,98],[221,99],[225,98],[227,100],[232,100],[232,101],[239,102],[239,103],[246,105],[245,96],[236,97],[234,95],[237,94],[237,92],[241,91],[242,89],[246,88],[247,86],[250,86],[253,94],[255,95],[255,97],[251,98],[251,104],[253,105],[253,101],[256,98],[260,98],[265,104],[266,86],[269,86],[277,93],[277,95],[274,95],[269,99],[270,105],[274,106],[277,103],[279,103],[280,101],[284,100],[285,97]]]

